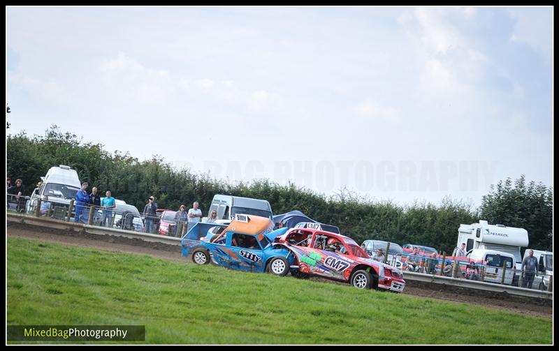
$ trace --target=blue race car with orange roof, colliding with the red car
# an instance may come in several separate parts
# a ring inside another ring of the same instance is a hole
[[[201,240],[212,227],[223,227],[209,241]],[[267,271],[277,276],[289,273],[293,254],[274,244],[288,228],[273,230],[270,218],[236,214],[230,224],[197,223],[181,240],[182,256],[191,257],[197,264],[213,262],[241,271]]]

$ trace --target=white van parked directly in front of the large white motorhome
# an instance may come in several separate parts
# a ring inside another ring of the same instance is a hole
[[[501,283],[503,264],[506,267],[504,272],[504,284],[512,285],[514,279],[515,258],[511,253],[503,251],[487,250],[485,248],[474,248],[468,251],[466,257],[476,263],[484,264],[484,282]]]

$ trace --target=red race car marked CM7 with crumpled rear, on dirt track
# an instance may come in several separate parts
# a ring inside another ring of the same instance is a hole
[[[372,260],[351,238],[310,228],[292,228],[278,236],[275,243],[295,256],[291,273],[296,276],[320,276],[350,283],[359,289],[375,288],[402,292],[402,271]]]

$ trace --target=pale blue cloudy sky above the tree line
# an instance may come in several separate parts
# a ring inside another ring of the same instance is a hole
[[[6,8],[7,133],[235,183],[472,206],[553,186],[551,7]]]

